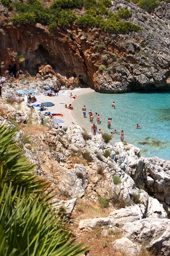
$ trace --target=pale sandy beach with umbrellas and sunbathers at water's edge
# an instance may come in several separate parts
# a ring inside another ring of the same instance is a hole
[[[60,125],[62,125],[63,127],[65,126],[72,126],[74,124],[79,124],[78,120],[75,119],[75,117],[73,117],[73,110],[70,110],[68,108],[65,108],[65,104],[67,104],[67,106],[69,104],[72,104],[73,108],[76,104],[76,100],[74,98],[70,97],[70,94],[72,93],[72,95],[77,95],[77,97],[79,95],[82,94],[86,94],[86,93],[91,93],[94,92],[94,90],[92,90],[91,88],[76,88],[73,90],[60,90],[59,91],[59,95],[58,96],[53,96],[53,97],[49,97],[49,96],[45,96],[43,94],[40,95],[35,95],[35,97],[37,98],[38,102],[35,102],[34,104],[39,104],[40,102],[52,102],[53,104],[55,104],[55,106],[49,107],[47,110],[50,111],[51,113],[56,113],[56,114],[63,114],[63,116],[55,116],[57,119],[60,119],[64,122],[59,123]],[[39,107],[35,107],[35,111],[39,110]],[[42,111],[43,114],[45,114],[45,112],[47,112],[47,110]],[[80,124],[79,124],[80,125]]]

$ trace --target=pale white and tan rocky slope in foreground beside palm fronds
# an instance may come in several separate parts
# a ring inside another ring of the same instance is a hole
[[[36,173],[51,183],[57,202],[64,202],[68,213],[79,198],[97,205],[100,197],[108,204],[107,216],[81,220],[79,232],[100,229],[101,236],[109,236],[119,230],[121,238],[109,244],[113,251],[126,244],[126,253],[137,255],[146,242],[155,255],[170,255],[170,162],[140,157],[131,144],[113,147],[102,135],[84,140],[78,125],[66,131],[39,125],[43,115],[30,114],[23,104],[18,111],[16,104],[12,108],[2,101],[0,125],[13,126],[11,119],[20,124],[15,140],[37,164]],[[32,123],[28,114],[34,116]]]

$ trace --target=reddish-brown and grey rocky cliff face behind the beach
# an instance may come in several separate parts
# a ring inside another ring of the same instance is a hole
[[[170,88],[170,3],[159,2],[147,13],[131,2],[112,1],[109,11],[119,9],[130,12],[123,20],[142,30],[120,34],[73,25],[50,32],[40,23],[14,25],[13,13],[0,2],[0,73],[37,75],[50,65],[59,86],[68,87],[70,79],[107,93]]]

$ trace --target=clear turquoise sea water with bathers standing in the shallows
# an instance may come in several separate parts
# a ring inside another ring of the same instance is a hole
[[[111,107],[115,101],[116,108]],[[144,157],[158,156],[170,160],[170,93],[126,93],[100,94],[92,92],[78,96],[74,101],[74,113],[78,124],[91,131],[89,110],[100,115],[102,121],[98,125],[104,132],[111,133],[124,130],[124,141],[141,149]],[[86,116],[83,118],[81,108],[86,106]],[[111,129],[107,128],[108,118],[111,120]],[[96,120],[95,120],[96,121]],[[95,122],[97,124],[97,122]],[[141,128],[137,129],[136,123]],[[112,143],[120,141],[120,135],[113,135]]]

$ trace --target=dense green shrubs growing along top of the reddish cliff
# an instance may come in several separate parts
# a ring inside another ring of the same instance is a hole
[[[4,6],[13,10],[9,18],[13,24],[41,23],[51,31],[56,26],[67,28],[76,24],[80,27],[99,27],[112,33],[129,33],[140,31],[141,27],[126,21],[131,16],[128,9],[121,8],[116,14],[111,13],[111,0],[53,0],[50,7],[45,7],[38,0],[27,2],[1,0]],[[85,15],[77,16],[75,9],[86,10]]]

